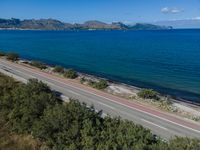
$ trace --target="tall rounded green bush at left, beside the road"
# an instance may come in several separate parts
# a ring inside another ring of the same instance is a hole
[[[13,90],[13,109],[9,113],[12,130],[18,133],[30,133],[33,123],[40,118],[43,111],[57,103],[50,88],[36,79],[29,80]]]

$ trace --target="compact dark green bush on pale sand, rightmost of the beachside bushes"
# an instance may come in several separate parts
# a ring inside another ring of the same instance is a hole
[[[159,99],[158,92],[152,89],[142,89],[137,93],[137,95],[144,99],[155,99],[155,100]]]

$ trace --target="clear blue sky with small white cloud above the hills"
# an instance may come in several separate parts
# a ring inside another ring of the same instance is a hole
[[[0,0],[0,18],[154,22],[200,19],[200,0]]]

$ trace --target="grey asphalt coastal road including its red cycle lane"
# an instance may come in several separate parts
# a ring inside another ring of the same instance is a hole
[[[167,140],[175,135],[200,138],[200,124],[130,102],[70,80],[2,59],[0,59],[0,72],[23,82],[30,78],[37,78],[66,97],[78,99],[88,105],[94,105],[97,110],[103,110],[103,115],[121,116],[123,119],[132,120],[134,123],[151,129],[154,134]]]

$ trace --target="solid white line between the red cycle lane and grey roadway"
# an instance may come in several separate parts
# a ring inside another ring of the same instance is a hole
[[[12,64],[12,65],[13,65],[13,64]],[[15,65],[14,65],[14,66],[15,66]],[[16,66],[15,66],[15,67],[16,67]],[[23,67],[18,67],[18,66],[17,66],[17,68],[20,68],[20,69],[22,69],[22,70],[26,70],[26,71],[31,72],[31,73],[35,73],[35,74],[37,74],[37,75],[39,75],[39,76],[42,76],[42,77],[44,77],[44,78],[48,78],[49,80],[56,81],[56,82],[58,82],[58,83],[61,83],[61,84],[64,84],[64,85],[70,86],[70,87],[75,88],[75,89],[78,89],[78,90],[80,90],[80,91],[83,91],[83,92],[86,92],[86,93],[89,93],[89,94],[92,94],[92,95],[95,95],[95,96],[98,96],[98,97],[101,97],[101,98],[107,99],[107,100],[112,101],[112,102],[114,102],[114,103],[116,103],[116,104],[119,104],[119,105],[122,105],[122,106],[125,106],[125,107],[128,107],[128,108],[131,108],[131,109],[135,109],[135,110],[137,110],[137,111],[139,111],[139,112],[142,112],[142,113],[148,114],[148,115],[150,115],[150,116],[153,116],[153,117],[159,118],[159,119],[161,119],[161,120],[164,120],[164,121],[170,122],[170,123],[172,123],[172,124],[175,124],[175,125],[177,125],[177,126],[180,126],[180,127],[183,127],[183,128],[189,129],[189,130],[192,130],[192,131],[194,131],[194,132],[200,133],[199,130],[192,129],[192,128],[190,128],[190,127],[187,127],[187,126],[181,125],[181,124],[176,123],[176,122],[173,122],[173,121],[171,121],[171,120],[168,120],[168,119],[165,119],[165,118],[159,117],[159,116],[157,116],[157,115],[151,114],[151,113],[149,113],[149,112],[146,112],[146,111],[143,111],[143,110],[140,110],[140,109],[137,109],[137,108],[134,108],[134,107],[131,107],[131,106],[125,105],[125,104],[123,104],[123,103],[120,103],[120,102],[114,101],[114,100],[112,100],[112,99],[109,99],[109,98],[104,97],[104,96],[101,96],[101,95],[97,95],[97,94],[92,93],[92,92],[90,92],[90,91],[86,91],[86,90],[84,90],[84,89],[80,89],[80,88],[78,88],[78,87],[74,87],[74,86],[72,86],[72,85],[68,85],[68,84],[63,83],[63,82],[60,82],[60,81],[58,81],[58,80],[55,80],[55,79],[52,79],[52,78],[46,77],[46,76],[44,76],[44,75],[38,74],[38,73],[36,73],[36,72],[33,72],[33,71],[30,71],[30,70],[27,70],[27,69],[25,69],[25,68],[23,68]]]

